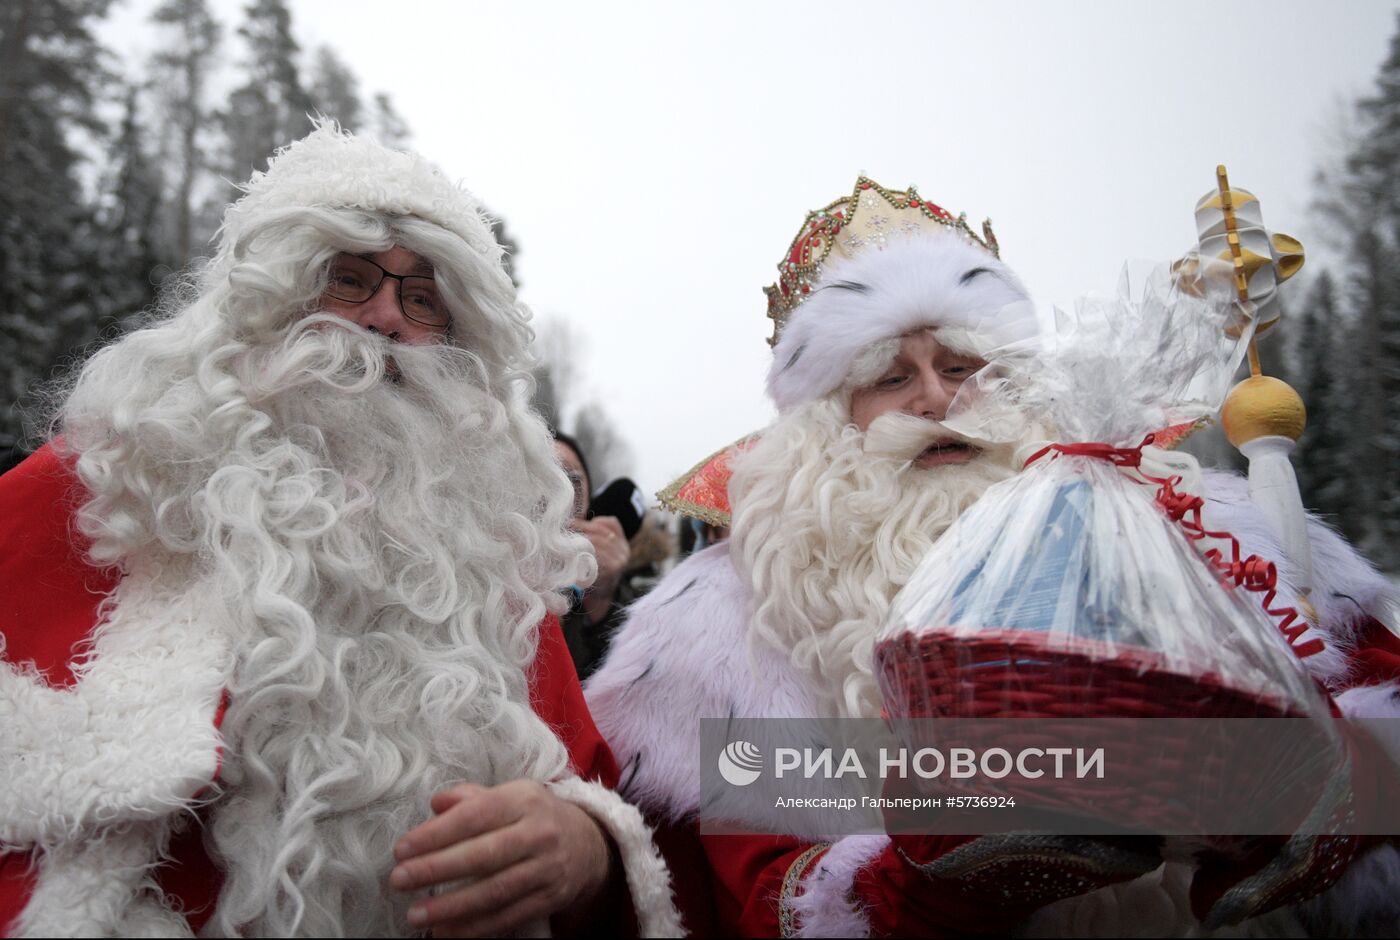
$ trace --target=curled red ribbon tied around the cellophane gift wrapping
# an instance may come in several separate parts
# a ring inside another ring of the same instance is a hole
[[[1113,447],[1112,444],[1100,443],[1086,443],[1086,444],[1049,444],[1040,448],[1025,462],[1025,466],[1030,466],[1037,459],[1046,454],[1053,452],[1051,459],[1060,457],[1060,454],[1070,454],[1074,457],[1092,457],[1095,459],[1105,459],[1114,466],[1131,466],[1134,469],[1142,465],[1142,448],[1152,443],[1155,434],[1148,434],[1142,438],[1142,443],[1137,447]],[[1309,656],[1316,656],[1326,649],[1320,639],[1312,639],[1306,643],[1301,643],[1302,635],[1308,632],[1308,622],[1301,621],[1298,611],[1291,607],[1273,607],[1274,598],[1278,595],[1278,569],[1277,566],[1266,558],[1259,555],[1250,555],[1249,558],[1240,558],[1239,539],[1236,539],[1229,532],[1212,532],[1205,528],[1201,523],[1201,507],[1205,506],[1205,500],[1200,496],[1193,496],[1191,493],[1177,493],[1176,485],[1182,482],[1180,476],[1148,476],[1138,469],[1142,479],[1156,483],[1156,503],[1166,513],[1166,517],[1182,527],[1186,532],[1186,538],[1193,542],[1203,538],[1217,538],[1221,541],[1228,541],[1231,545],[1231,558],[1226,560],[1224,553],[1218,548],[1207,549],[1203,553],[1211,567],[1219,576],[1221,581],[1229,581],[1246,591],[1253,591],[1256,594],[1263,594],[1260,605],[1264,612],[1271,618],[1278,621],[1278,630],[1284,635],[1288,649],[1291,649],[1298,658],[1305,660]]]

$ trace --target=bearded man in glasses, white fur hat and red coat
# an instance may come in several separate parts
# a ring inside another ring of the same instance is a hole
[[[0,481],[0,929],[675,933],[477,202],[321,126]],[[536,933],[535,936],[545,936]]]

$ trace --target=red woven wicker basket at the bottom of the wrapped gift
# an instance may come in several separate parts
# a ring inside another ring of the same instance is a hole
[[[1281,699],[1231,688],[1219,675],[1173,671],[1163,656],[1151,650],[1044,632],[906,633],[876,646],[875,668],[886,712],[913,748],[948,744],[946,727],[935,730],[925,719],[1070,719],[1061,723],[1063,738],[1074,740],[1084,737],[1079,720],[1095,717],[1301,717]],[[1043,744],[1047,735],[1054,737],[1054,721],[1037,721],[1036,741],[1028,738],[1025,745]],[[1242,766],[1229,755],[1203,761],[1200,741],[1187,721],[1149,724],[1149,733],[1133,721],[1095,724],[1096,731],[1100,727],[1107,737],[1096,741],[1110,742],[1113,780],[1028,783],[1015,776],[979,777],[965,782],[963,792],[1011,796],[1018,806],[1092,820],[1133,820],[1158,832],[1193,832],[1200,807],[1183,800],[1183,790],[1252,793],[1268,769]],[[1319,747],[1324,747],[1322,741]],[[1302,748],[1296,740],[1280,745],[1280,762],[1298,761]],[[1190,783],[1183,787],[1183,780]],[[946,793],[949,787],[958,789],[959,783],[939,780],[927,789]]]

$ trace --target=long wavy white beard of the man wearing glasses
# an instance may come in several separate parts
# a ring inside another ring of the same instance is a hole
[[[160,481],[155,555],[203,559],[179,587],[235,650],[206,932],[403,936],[392,846],[431,794],[567,768],[525,672],[554,593],[592,577],[571,493],[539,420],[462,349],[312,318],[221,367],[228,403],[181,402],[158,465],[116,464]],[[132,577],[172,577],[143,556]]]

